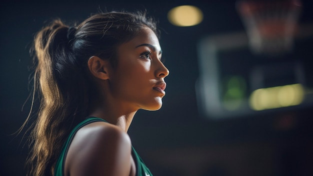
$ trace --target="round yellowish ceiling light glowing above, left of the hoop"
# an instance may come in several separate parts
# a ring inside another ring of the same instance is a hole
[[[169,22],[175,26],[194,26],[201,23],[203,19],[202,12],[194,6],[178,6],[171,9],[167,18]]]

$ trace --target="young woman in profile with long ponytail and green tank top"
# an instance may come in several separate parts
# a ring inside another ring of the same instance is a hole
[[[41,102],[30,174],[152,175],[127,130],[138,109],[159,109],[165,95],[155,23],[123,12],[77,27],[56,20],[36,34],[34,51]]]

